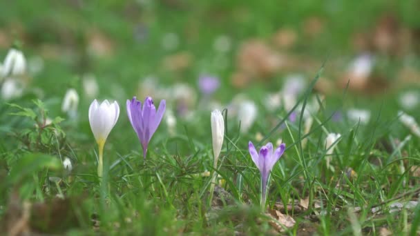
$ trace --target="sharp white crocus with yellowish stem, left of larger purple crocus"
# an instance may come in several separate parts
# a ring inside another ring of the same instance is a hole
[[[99,177],[102,177],[104,170],[103,153],[106,138],[117,123],[119,116],[120,106],[118,106],[117,101],[110,104],[108,100],[105,100],[102,104],[99,104],[95,99],[92,104],[90,104],[90,128],[92,129],[93,135],[99,146],[99,162],[97,166],[97,175]]]

